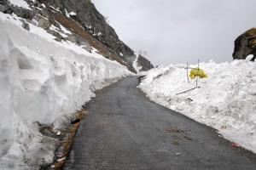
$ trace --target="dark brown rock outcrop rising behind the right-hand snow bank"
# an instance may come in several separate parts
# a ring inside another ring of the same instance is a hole
[[[246,59],[249,54],[256,57],[256,28],[252,28],[236,38],[233,59]]]

